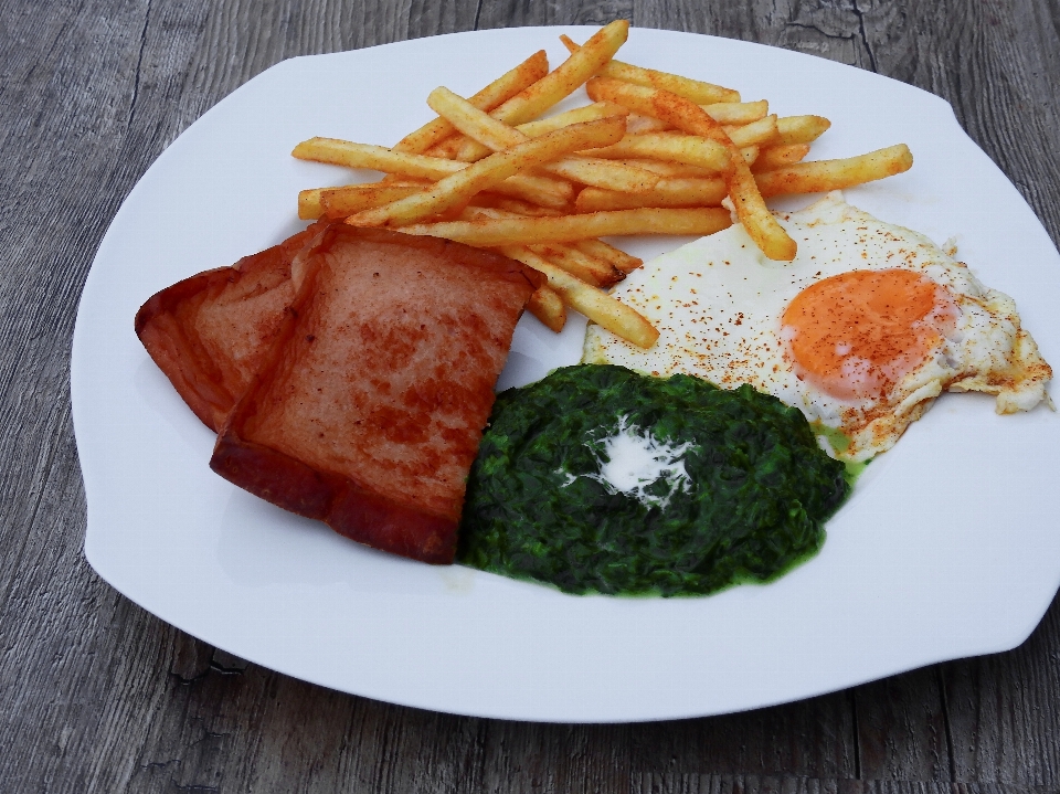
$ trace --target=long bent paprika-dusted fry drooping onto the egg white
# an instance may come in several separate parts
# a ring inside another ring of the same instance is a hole
[[[606,77],[594,77],[585,85],[585,89],[594,102],[625,105],[635,113],[654,116],[691,135],[724,144],[729,148],[732,162],[732,169],[725,174],[729,198],[748,234],[771,260],[791,262],[795,258],[795,241],[765,205],[754,176],[740,150],[733,146],[721,125],[708,116],[703,108],[667,91],[644,88]]]

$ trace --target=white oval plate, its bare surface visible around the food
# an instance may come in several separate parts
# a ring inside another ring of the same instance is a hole
[[[579,40],[592,29],[566,29]],[[314,135],[391,145],[560,29],[462,33],[287,61],[206,113],[121,207],[77,315],[72,389],[88,499],[85,554],[159,617],[265,667],[396,703],[486,717],[632,721],[805,698],[933,661],[1011,648],[1060,583],[1060,417],[996,416],[944,395],[875,463],[823,552],[767,586],[707,599],[576,597],[374,552],[285,514],[206,466],[211,433],[132,332],[151,294],[292,234],[299,189],[348,171],[294,160]],[[879,218],[955,236],[1060,361],[1060,257],[950,106],[878,75],[756,44],[634,30],[622,57],[834,121],[817,159],[908,142],[907,174],[848,191]],[[569,105],[570,103],[568,103]],[[787,205],[806,203],[805,200]],[[681,240],[634,241],[661,252]],[[577,359],[518,329],[502,380]]]

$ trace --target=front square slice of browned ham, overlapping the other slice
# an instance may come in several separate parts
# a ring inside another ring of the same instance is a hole
[[[327,226],[211,467],[353,540],[452,562],[494,385],[542,282],[458,243]]]

